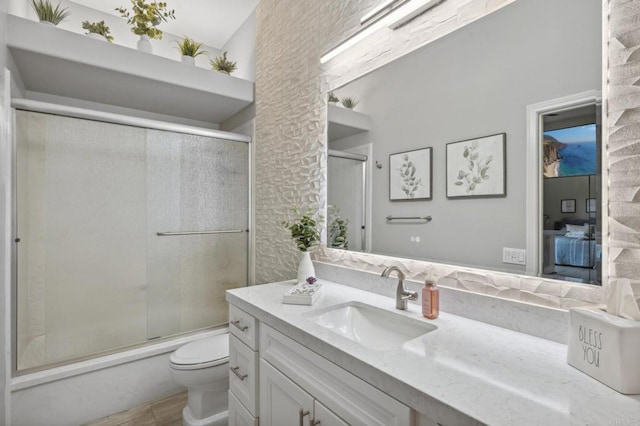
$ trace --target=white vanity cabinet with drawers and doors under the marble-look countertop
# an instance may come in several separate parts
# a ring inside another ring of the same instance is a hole
[[[411,409],[229,307],[229,424],[413,426]]]

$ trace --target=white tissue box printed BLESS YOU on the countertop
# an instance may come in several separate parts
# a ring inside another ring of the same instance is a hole
[[[603,307],[569,309],[567,362],[624,394],[640,394],[640,321]]]

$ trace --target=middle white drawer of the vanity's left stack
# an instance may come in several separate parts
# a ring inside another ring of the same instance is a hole
[[[229,335],[229,389],[253,416],[258,415],[258,354]]]

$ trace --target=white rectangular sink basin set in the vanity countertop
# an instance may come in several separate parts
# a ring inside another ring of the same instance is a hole
[[[303,316],[327,330],[376,351],[401,347],[404,342],[437,328],[426,320],[409,318],[360,302],[341,303]]]

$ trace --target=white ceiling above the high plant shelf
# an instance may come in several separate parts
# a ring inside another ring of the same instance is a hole
[[[72,0],[114,16],[117,7],[130,9],[130,0]],[[176,11],[176,19],[163,23],[163,31],[221,49],[251,15],[258,0],[165,0]]]

